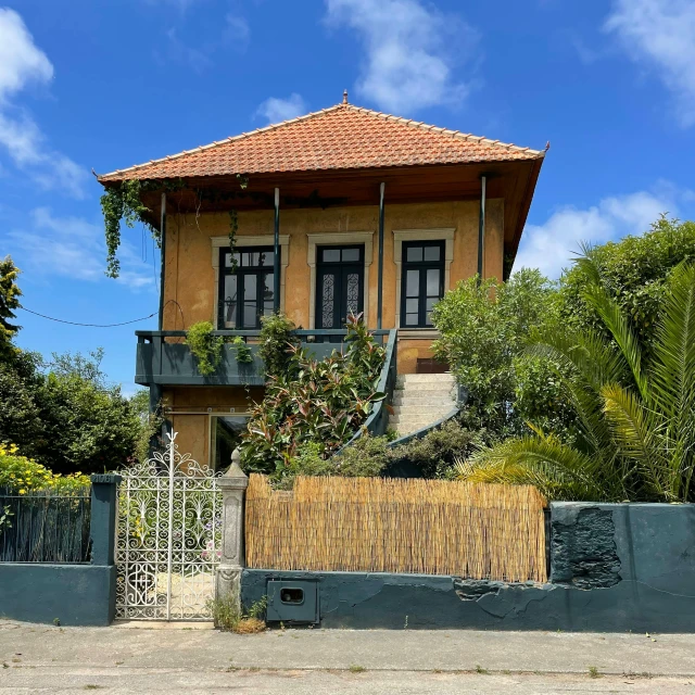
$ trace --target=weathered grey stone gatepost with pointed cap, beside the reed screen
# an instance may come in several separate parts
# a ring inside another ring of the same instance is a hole
[[[241,456],[236,448],[229,470],[218,480],[222,490],[222,557],[217,568],[216,596],[233,596],[241,608],[241,572],[245,567],[243,544],[244,496],[249,478],[241,470]]]

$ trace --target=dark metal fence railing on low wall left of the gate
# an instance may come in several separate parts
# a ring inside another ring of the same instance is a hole
[[[88,563],[90,488],[18,494],[0,488],[0,563]]]

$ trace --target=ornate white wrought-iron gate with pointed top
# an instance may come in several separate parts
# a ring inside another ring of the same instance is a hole
[[[212,470],[165,454],[122,472],[116,618],[210,620],[222,547],[222,493]]]

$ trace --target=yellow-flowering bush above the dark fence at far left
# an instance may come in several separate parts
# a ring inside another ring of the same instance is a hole
[[[90,484],[88,476],[53,473],[33,458],[21,456],[17,451],[15,444],[0,443],[0,488],[16,491],[21,495],[39,490],[70,495]]]

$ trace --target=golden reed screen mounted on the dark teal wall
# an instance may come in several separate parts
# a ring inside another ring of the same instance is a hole
[[[258,569],[547,580],[546,505],[532,486],[252,475],[247,564]]]

